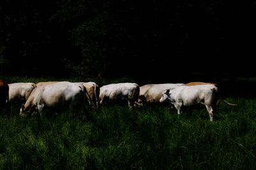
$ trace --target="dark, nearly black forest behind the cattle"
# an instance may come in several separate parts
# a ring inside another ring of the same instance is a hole
[[[255,8],[223,0],[1,0],[0,72],[139,82],[254,76]]]

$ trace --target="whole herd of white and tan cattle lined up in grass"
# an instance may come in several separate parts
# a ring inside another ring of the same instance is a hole
[[[99,86],[94,82],[46,81],[40,83],[4,83],[0,80],[0,107],[19,103],[20,116],[42,113],[45,110],[68,109],[86,113],[87,108],[98,108],[106,103],[125,101],[129,108],[146,103],[172,103],[178,115],[183,106],[205,105],[210,120],[216,105],[223,101],[214,83],[164,83],[139,86],[136,83],[113,83]],[[236,104],[227,103],[234,106]]]

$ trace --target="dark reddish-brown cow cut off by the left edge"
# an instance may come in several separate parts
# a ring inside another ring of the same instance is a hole
[[[7,115],[12,115],[9,105],[9,86],[0,79],[0,109],[6,110]]]

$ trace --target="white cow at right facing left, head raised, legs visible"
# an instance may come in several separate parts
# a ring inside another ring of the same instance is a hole
[[[184,85],[173,90],[165,90],[160,99],[160,103],[166,101],[175,106],[178,115],[180,115],[182,106],[195,106],[196,104],[202,103],[209,113],[210,120],[213,121],[213,110],[216,108],[218,101],[218,88],[215,85]],[[226,101],[224,102],[227,103]]]

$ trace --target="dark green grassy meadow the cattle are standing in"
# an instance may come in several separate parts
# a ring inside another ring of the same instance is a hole
[[[0,169],[255,169],[256,99],[225,99],[238,106],[220,103],[214,122],[204,107],[178,118],[162,106],[104,106],[88,120],[20,118],[12,105],[13,117],[0,116]]]

